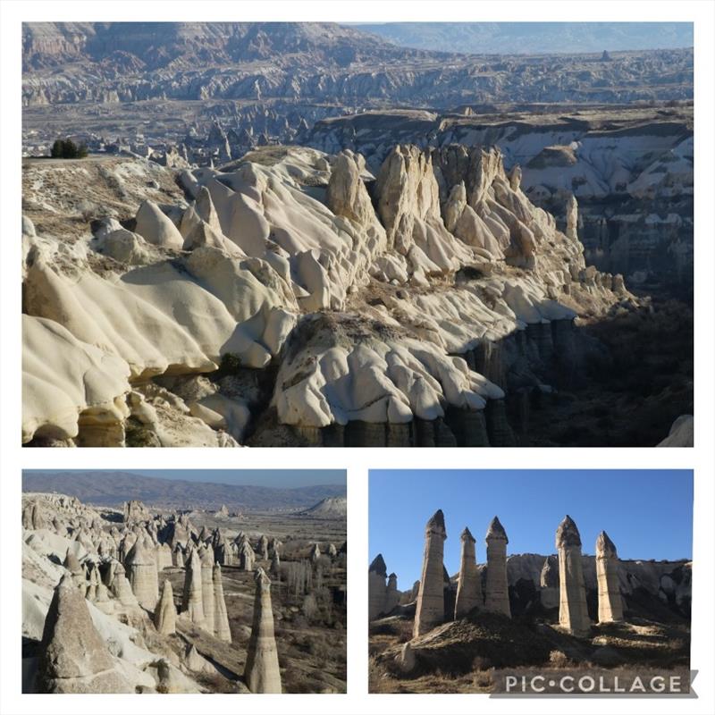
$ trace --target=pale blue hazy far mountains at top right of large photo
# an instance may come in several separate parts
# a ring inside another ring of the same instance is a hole
[[[693,46],[692,22],[384,22],[351,27],[402,47],[475,55]]]

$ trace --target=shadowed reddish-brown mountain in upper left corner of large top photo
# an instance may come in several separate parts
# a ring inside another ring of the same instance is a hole
[[[303,57],[333,67],[425,55],[329,22],[26,22],[26,71],[99,63],[104,71],[192,70]]]

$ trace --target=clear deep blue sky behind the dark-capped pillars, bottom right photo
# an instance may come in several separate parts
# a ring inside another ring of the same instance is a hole
[[[400,589],[421,572],[425,524],[444,512],[444,564],[456,573],[469,527],[476,560],[498,516],[509,536],[507,553],[555,552],[561,519],[576,521],[584,553],[593,554],[605,530],[622,559],[690,559],[693,473],[689,470],[371,470],[370,560],[382,553]]]

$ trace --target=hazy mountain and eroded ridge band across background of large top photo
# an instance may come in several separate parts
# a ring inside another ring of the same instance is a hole
[[[458,55],[332,23],[25,23],[23,105],[146,99],[382,102],[692,97],[693,50]],[[568,71],[567,71],[568,70]]]

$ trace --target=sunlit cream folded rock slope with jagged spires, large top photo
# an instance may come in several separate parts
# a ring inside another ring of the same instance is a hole
[[[548,394],[593,352],[577,316],[638,307],[585,264],[576,201],[559,231],[496,149],[158,168],[185,199],[89,201],[78,235],[26,167],[23,442],[512,444],[505,391]]]

